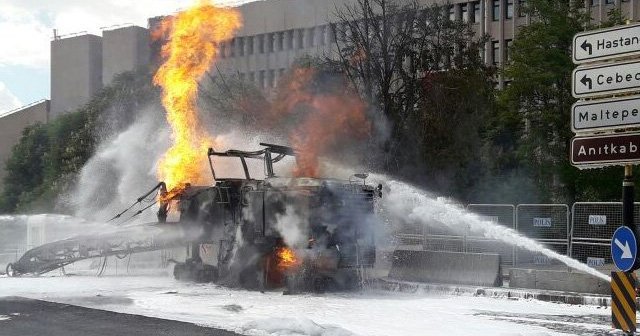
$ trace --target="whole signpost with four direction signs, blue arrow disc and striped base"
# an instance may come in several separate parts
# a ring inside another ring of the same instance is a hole
[[[611,238],[611,259],[621,272],[611,273],[613,327],[632,335],[636,331],[636,277],[638,228],[633,220],[633,165],[640,164],[640,24],[576,34],[571,91],[587,98],[573,105],[571,163],[580,168],[624,166],[622,226]],[[620,58],[630,58],[623,60]],[[615,61],[615,62],[614,62]],[[635,96],[614,97],[614,95]],[[609,99],[602,99],[609,98]],[[589,132],[592,132],[589,134]],[[595,132],[609,134],[593,134]]]

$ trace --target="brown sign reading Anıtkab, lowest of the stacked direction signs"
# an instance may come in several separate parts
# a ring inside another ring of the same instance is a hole
[[[640,162],[640,133],[575,137],[571,141],[571,163],[579,168],[614,166]]]

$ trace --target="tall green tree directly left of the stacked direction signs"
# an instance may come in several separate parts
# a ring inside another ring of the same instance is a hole
[[[544,201],[571,201],[576,179],[568,157],[573,136],[570,110],[575,102],[571,45],[590,18],[583,3],[571,0],[531,0],[525,11],[534,19],[514,39],[511,63],[504,70],[512,81],[501,94],[495,116],[500,126],[494,135],[514,136],[517,144],[504,145],[516,148],[515,157],[533,177]]]

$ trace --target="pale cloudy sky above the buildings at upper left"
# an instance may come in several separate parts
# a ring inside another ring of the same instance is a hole
[[[50,41],[77,32],[136,24],[196,0],[0,0],[0,114],[50,97]],[[234,5],[246,1],[218,0]]]

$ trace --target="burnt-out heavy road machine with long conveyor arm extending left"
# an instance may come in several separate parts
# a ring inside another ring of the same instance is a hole
[[[160,183],[138,199],[158,190],[158,222],[143,225],[142,234],[127,228],[45,244],[8,265],[7,274],[41,274],[88,258],[186,246],[186,259],[174,261],[180,280],[290,292],[361,285],[375,263],[374,203],[381,187],[366,184],[365,174],[349,181],[277,176],[274,165],[295,157],[293,149],[260,145],[251,152],[209,149],[213,186],[167,190]],[[216,157],[239,160],[244,178],[216,176]],[[263,179],[250,175],[249,160],[262,164]]]

